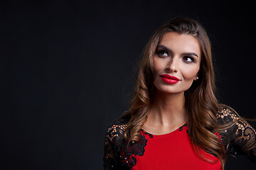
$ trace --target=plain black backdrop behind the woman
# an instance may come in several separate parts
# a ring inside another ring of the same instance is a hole
[[[1,1],[0,169],[102,169],[137,61],[169,18],[201,22],[218,99],[255,118],[255,11],[247,1]],[[245,156],[226,169],[255,169]]]

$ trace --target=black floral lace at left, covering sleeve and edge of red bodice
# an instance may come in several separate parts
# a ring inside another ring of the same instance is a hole
[[[137,164],[136,156],[143,156],[146,146],[146,135],[153,135],[142,130],[139,142],[124,140],[124,130],[127,122],[117,121],[107,130],[104,149],[105,169],[132,169]]]

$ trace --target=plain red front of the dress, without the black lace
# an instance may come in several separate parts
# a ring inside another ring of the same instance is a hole
[[[212,154],[201,150],[204,157],[215,163],[206,162],[196,154],[187,130],[187,124],[165,135],[151,135],[142,130],[142,135],[147,140],[145,151],[143,156],[136,156],[137,164],[132,169],[220,170],[220,161]]]

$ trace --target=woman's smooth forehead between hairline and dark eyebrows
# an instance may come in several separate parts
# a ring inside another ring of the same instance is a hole
[[[159,45],[164,45],[176,53],[195,52],[198,56],[201,56],[200,44],[192,35],[175,32],[165,33]]]

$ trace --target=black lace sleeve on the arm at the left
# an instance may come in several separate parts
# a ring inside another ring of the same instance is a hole
[[[114,123],[107,130],[103,157],[103,166],[105,170],[122,169],[119,164],[119,155],[126,127],[127,124]]]

